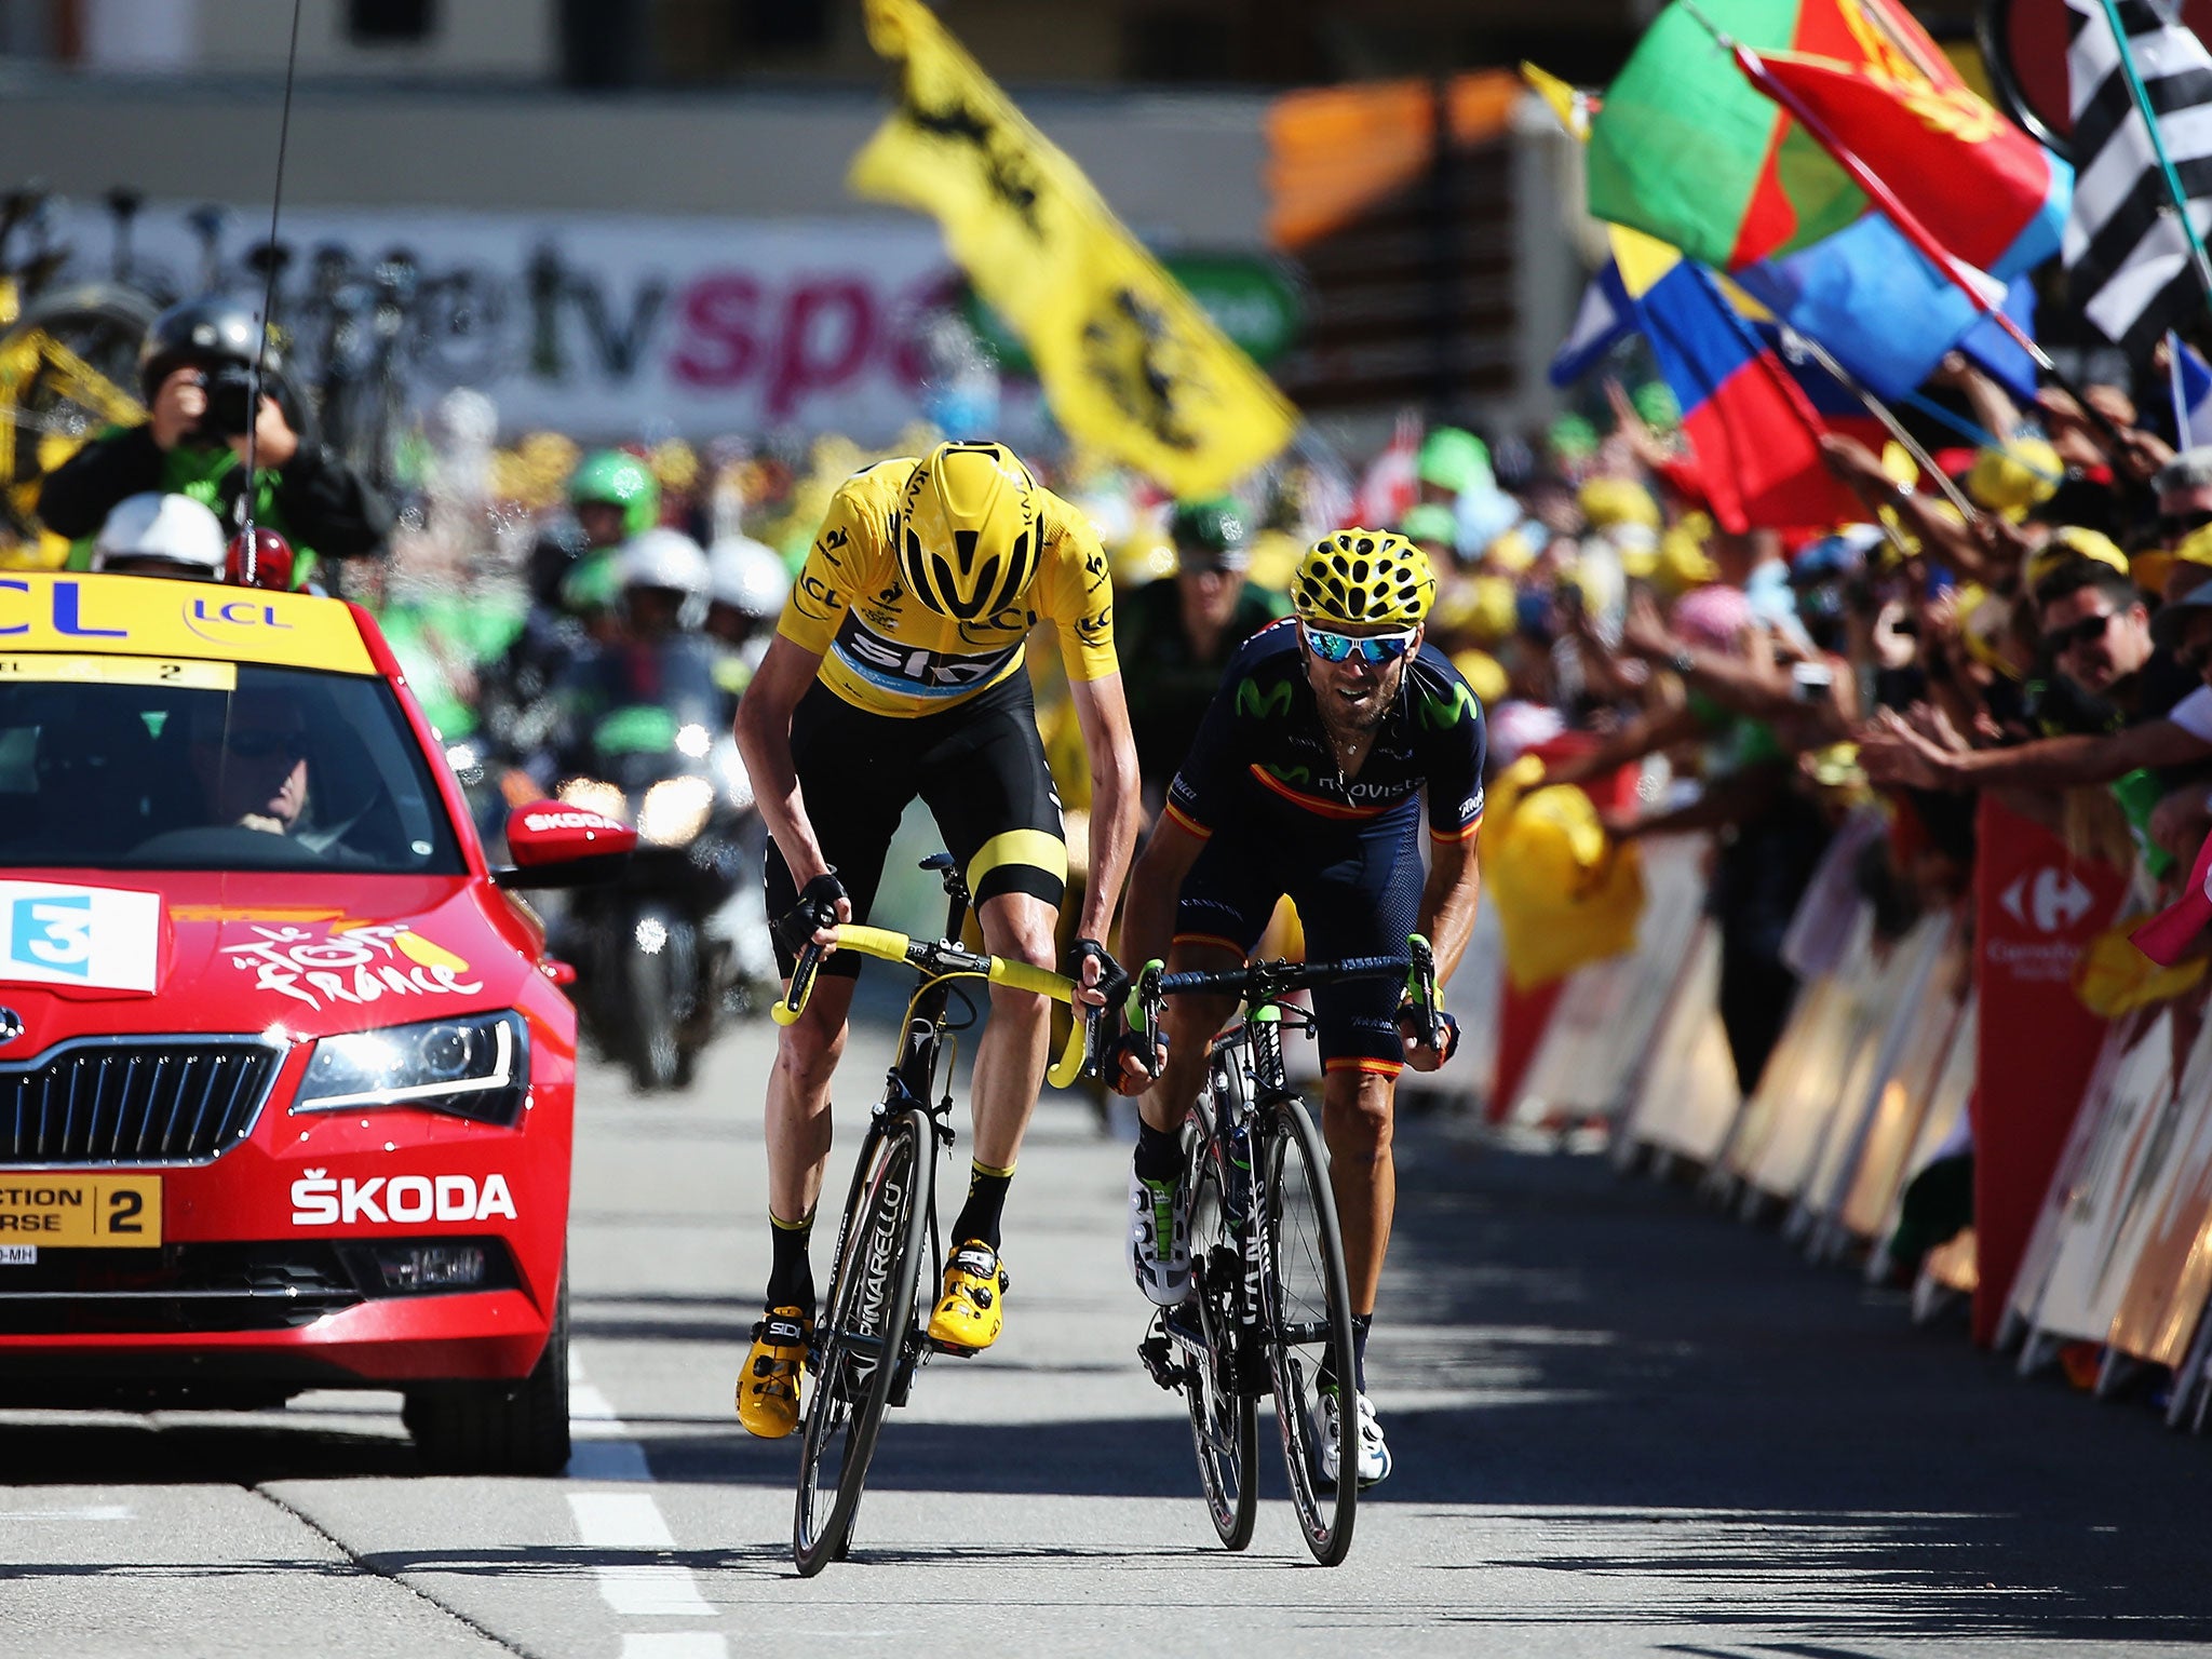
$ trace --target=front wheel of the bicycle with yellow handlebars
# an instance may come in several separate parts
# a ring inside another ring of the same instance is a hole
[[[814,1577],[845,1553],[905,1343],[929,1228],[929,1115],[909,1106],[860,1152],[830,1305],[814,1334],[814,1400],[799,1444],[792,1559]]]

